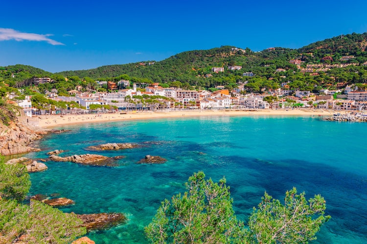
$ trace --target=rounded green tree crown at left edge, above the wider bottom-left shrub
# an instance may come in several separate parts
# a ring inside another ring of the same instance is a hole
[[[25,165],[5,164],[0,159],[0,197],[23,201],[27,195],[31,182]]]

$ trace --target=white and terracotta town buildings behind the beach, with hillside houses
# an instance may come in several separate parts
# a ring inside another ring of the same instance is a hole
[[[330,57],[331,58],[331,57]],[[342,57],[352,58],[351,56]],[[307,64],[307,68],[300,68],[300,60],[291,60],[290,63],[298,65],[301,73],[310,73],[310,76],[319,75],[318,71],[330,70],[331,67],[347,67],[357,65],[356,63],[346,64]],[[366,63],[361,64],[363,66]],[[230,70],[240,70],[241,66],[228,66]],[[276,72],[284,72],[283,69],[276,69]],[[223,67],[213,67],[213,73],[224,72]],[[211,74],[209,74],[211,75]],[[252,72],[245,72],[243,76],[253,77]],[[34,78],[34,84],[52,82],[50,78]],[[107,85],[110,92],[82,91],[82,86],[76,86],[69,90],[69,96],[58,96],[57,90],[47,92],[46,96],[56,102],[75,102],[83,107],[82,109],[44,109],[40,114],[67,114],[67,113],[89,113],[91,104],[111,105],[115,110],[182,110],[182,109],[291,109],[291,108],[313,108],[331,109],[343,111],[366,112],[367,110],[367,90],[360,90],[356,85],[346,85],[338,82],[336,90],[321,89],[319,94],[306,90],[290,89],[289,82],[282,82],[277,89],[264,90],[263,93],[246,93],[246,82],[238,84],[233,90],[225,89],[225,86],[216,86],[215,91],[209,90],[184,90],[177,87],[163,88],[159,83],[133,83],[131,81],[96,81],[97,85]],[[146,103],[142,98],[156,98],[153,102]],[[15,97],[15,95],[13,95]],[[271,98],[271,99],[267,99]],[[10,96],[12,98],[12,96]],[[31,97],[17,101],[23,108],[24,115],[32,117],[37,115],[38,110],[31,102]]]

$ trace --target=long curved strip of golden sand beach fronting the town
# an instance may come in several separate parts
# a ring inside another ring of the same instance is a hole
[[[180,111],[128,111],[110,114],[84,114],[84,115],[43,115],[37,118],[38,126],[50,128],[60,125],[71,125],[91,122],[115,122],[125,120],[149,120],[178,117],[202,116],[330,116],[333,110],[321,109],[258,109],[258,110],[180,110]]]

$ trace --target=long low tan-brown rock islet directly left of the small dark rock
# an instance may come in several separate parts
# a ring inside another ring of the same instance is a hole
[[[69,157],[59,157],[56,155],[51,155],[48,158],[52,161],[57,162],[72,162],[72,163],[82,163],[93,166],[116,166],[114,161],[120,159],[123,156],[109,158],[103,155],[97,154],[83,154],[83,155],[72,155]]]

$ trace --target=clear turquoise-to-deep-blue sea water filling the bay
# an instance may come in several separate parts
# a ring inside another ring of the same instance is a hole
[[[122,212],[125,224],[88,234],[97,244],[147,243],[143,227],[165,198],[184,192],[184,183],[203,170],[230,186],[238,219],[247,222],[264,191],[284,198],[296,186],[307,198],[321,194],[332,216],[312,243],[367,243],[367,123],[325,122],[316,117],[206,117],[92,123],[60,127],[37,142],[43,151],[25,155],[47,158],[98,153],[124,155],[116,167],[46,162],[32,173],[30,195],[57,193],[75,201],[65,212]],[[91,152],[107,142],[134,142],[139,148]],[[164,164],[137,164],[145,155]]]

